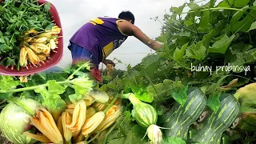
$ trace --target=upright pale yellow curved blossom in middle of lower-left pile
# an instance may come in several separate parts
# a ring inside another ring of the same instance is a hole
[[[72,115],[72,122],[67,124],[66,127],[70,128],[71,132],[81,130],[84,122],[86,121],[86,102],[79,100],[74,106]]]

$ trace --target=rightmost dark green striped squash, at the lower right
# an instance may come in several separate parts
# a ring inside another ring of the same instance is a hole
[[[223,98],[223,96],[226,96]],[[222,94],[221,105],[216,114],[212,113],[191,138],[194,143],[219,144],[222,133],[229,128],[239,114],[239,102],[231,94]]]

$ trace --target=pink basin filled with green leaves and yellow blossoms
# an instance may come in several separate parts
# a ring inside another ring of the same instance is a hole
[[[0,74],[35,74],[62,59],[62,25],[52,3],[2,1],[0,7]]]

